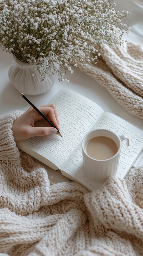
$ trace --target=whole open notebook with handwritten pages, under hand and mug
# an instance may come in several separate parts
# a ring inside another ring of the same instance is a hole
[[[126,141],[122,142],[116,173],[116,176],[124,178],[143,149],[143,131],[114,114],[104,112],[95,102],[69,89],[59,91],[51,103],[56,104],[63,138],[56,134],[32,137],[17,142],[18,148],[52,169],[59,169],[64,176],[92,191],[102,183],[90,180],[83,170],[83,137],[99,128],[108,129],[119,136],[127,134],[130,144],[127,148]],[[36,123],[36,126],[41,125],[46,126],[46,121]]]

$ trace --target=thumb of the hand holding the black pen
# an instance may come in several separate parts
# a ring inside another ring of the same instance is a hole
[[[50,135],[54,134],[57,132],[56,128],[53,127],[29,127],[29,137],[34,137],[34,136],[45,136],[45,135]]]

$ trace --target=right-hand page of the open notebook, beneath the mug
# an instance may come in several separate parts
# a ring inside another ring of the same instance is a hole
[[[118,136],[125,134],[129,138],[129,147],[126,146],[126,140],[122,141],[119,168],[116,173],[117,177],[124,178],[143,149],[143,131],[114,114],[106,112],[102,114],[102,117],[91,130],[101,128],[113,131]],[[61,171],[67,172],[71,180],[73,177],[74,181],[77,180],[77,182],[83,183],[89,190],[95,190],[103,184],[90,180],[85,174],[81,144],[63,164]],[[65,174],[63,173],[63,175]]]

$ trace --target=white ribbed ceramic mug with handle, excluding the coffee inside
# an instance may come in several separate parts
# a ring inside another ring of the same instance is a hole
[[[86,151],[86,145],[94,137],[105,136],[112,140],[117,145],[117,152],[113,157],[105,160],[97,160],[90,157]],[[114,132],[105,130],[105,129],[97,129],[89,132],[83,138],[82,141],[82,153],[83,153],[83,166],[86,175],[97,182],[102,182],[116,174],[119,165],[119,157],[121,152],[122,141],[127,140],[126,145],[129,146],[129,139],[126,135],[117,136]]]

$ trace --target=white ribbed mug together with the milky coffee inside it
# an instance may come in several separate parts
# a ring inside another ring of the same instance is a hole
[[[102,182],[116,174],[122,141],[126,135],[116,135],[106,129],[89,132],[82,140],[83,167],[86,175],[96,182]]]

